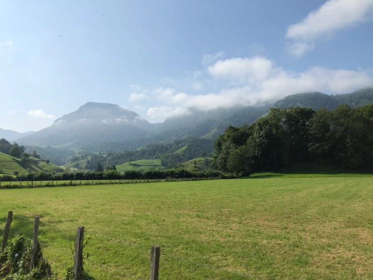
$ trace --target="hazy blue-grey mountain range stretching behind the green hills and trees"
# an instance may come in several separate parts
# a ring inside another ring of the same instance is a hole
[[[250,124],[266,114],[271,107],[333,110],[339,104],[348,104],[353,108],[373,104],[373,88],[335,96],[305,92],[259,107],[210,111],[190,109],[190,114],[168,118],[162,124],[151,124],[137,113],[118,105],[89,102],[77,111],[57,119],[47,128],[27,136],[21,135],[17,141],[23,145],[84,148],[87,151],[135,150],[146,144],[186,137],[215,139],[229,125]]]

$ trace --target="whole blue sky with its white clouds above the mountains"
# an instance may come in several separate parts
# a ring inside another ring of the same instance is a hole
[[[87,102],[150,122],[373,86],[373,0],[0,0],[0,128]]]

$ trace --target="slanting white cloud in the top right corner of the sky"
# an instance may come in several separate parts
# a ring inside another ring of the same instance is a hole
[[[314,49],[314,41],[371,20],[373,0],[329,0],[302,21],[289,26],[287,51],[300,57]]]

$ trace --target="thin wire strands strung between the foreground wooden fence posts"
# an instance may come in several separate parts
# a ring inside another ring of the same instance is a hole
[[[28,220],[28,221],[34,221],[33,219],[30,219],[30,218],[27,218],[27,217],[22,217],[22,216],[18,216],[18,215],[13,215],[14,217],[17,217],[17,218],[20,218],[20,219],[24,219],[24,220]],[[59,227],[59,228],[63,228],[63,229],[69,229],[69,230],[76,230],[76,228],[73,228],[73,227],[67,227],[67,226],[62,226],[62,225],[58,225],[58,224],[54,224],[54,223],[49,223],[49,222],[44,222],[44,221],[40,221],[40,223],[43,223],[43,224],[47,224],[47,225],[52,225],[52,226],[56,226],[56,227]],[[0,228],[2,231],[4,231],[3,228]],[[109,236],[104,236],[104,235],[100,235],[100,234],[96,234],[95,232],[91,232],[91,231],[86,231],[89,235],[92,235],[92,236],[97,236],[97,237],[100,237],[100,238],[104,238],[104,239],[108,239],[108,240],[111,240],[111,241],[115,241],[115,242],[118,242],[118,243],[121,243],[121,244],[124,244],[124,245],[127,245],[127,246],[131,246],[131,247],[136,247],[136,248],[140,248],[140,249],[143,249],[143,250],[150,250],[151,248],[150,247],[142,247],[142,246],[139,246],[139,245],[136,245],[136,244],[133,244],[133,243],[130,243],[130,242],[127,242],[127,241],[123,241],[123,240],[119,240],[119,239],[115,239],[115,238],[112,238],[112,237],[109,237]],[[32,241],[31,239],[29,238],[26,238],[27,240],[30,240]],[[59,248],[56,248],[56,247],[53,247],[49,244],[42,244],[39,242],[39,244],[42,246],[42,247],[47,247],[47,248],[51,248],[52,250],[56,250],[58,252],[61,252],[61,253],[64,253],[66,255],[69,255],[69,256],[73,256],[74,253],[73,252],[67,252],[65,250],[62,250],[62,249],[59,249]],[[195,261],[191,261],[191,260],[187,260],[187,259],[183,259],[183,258],[180,258],[180,257],[177,257],[177,256],[173,256],[173,255],[170,255],[170,254],[164,254],[164,253],[161,253],[162,256],[165,256],[165,257],[168,257],[168,258],[173,258],[173,259],[176,259],[178,261],[181,261],[181,262],[186,262],[186,263],[191,263],[191,264],[194,264],[196,266],[199,266],[199,267],[204,267],[204,268],[207,268],[207,269],[211,269],[211,270],[216,270],[216,271],[222,271],[222,272],[226,272],[226,273],[232,273],[232,274],[236,274],[236,275],[240,275],[240,276],[244,276],[244,277],[247,277],[247,278],[255,278],[255,279],[262,279],[262,280],[271,280],[270,278],[265,278],[265,277],[261,277],[261,276],[257,276],[257,275],[253,275],[253,274],[247,274],[247,273],[242,273],[242,272],[238,272],[238,271],[233,271],[233,270],[228,270],[228,269],[224,269],[224,268],[219,268],[219,267],[213,267],[213,266],[210,266],[210,265],[206,265],[206,264],[202,264],[202,263],[198,263],[198,262],[195,262]],[[101,263],[98,263],[97,261],[93,261],[92,259],[90,258],[87,258],[86,259],[88,262],[91,262],[95,265],[98,265],[98,266],[101,266],[105,269],[108,269],[108,270],[111,270],[115,273],[118,273],[118,274],[121,274],[122,276],[127,276],[127,277],[131,277],[133,279],[139,279],[139,280],[143,280],[142,278],[139,278],[137,276],[134,276],[134,275],[131,275],[131,274],[128,274],[126,272],[123,272],[121,270],[118,270],[118,269],[115,269],[113,267],[110,267],[110,266],[106,266],[104,264],[101,264]],[[53,263],[55,265],[58,265],[60,267],[63,267],[57,263]],[[64,267],[66,268],[66,267]]]

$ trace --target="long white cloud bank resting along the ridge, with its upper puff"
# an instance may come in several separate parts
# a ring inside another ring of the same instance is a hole
[[[210,94],[190,95],[175,89],[158,88],[157,96],[164,106],[153,107],[148,115],[154,119],[188,114],[187,108],[211,110],[238,106],[255,106],[275,102],[288,95],[305,91],[322,91],[328,94],[351,92],[364,86],[373,86],[371,73],[311,67],[295,73],[276,66],[266,58],[232,58],[218,61],[208,67],[216,79],[238,82],[234,87],[223,88]]]

